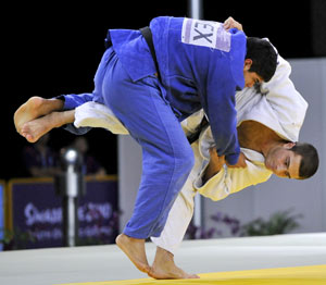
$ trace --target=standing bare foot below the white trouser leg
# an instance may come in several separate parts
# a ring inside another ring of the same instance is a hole
[[[198,275],[176,267],[174,256],[161,247],[156,248],[155,259],[148,275],[156,280],[199,278]]]

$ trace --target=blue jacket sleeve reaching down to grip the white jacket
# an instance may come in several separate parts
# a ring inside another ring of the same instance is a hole
[[[240,153],[237,135],[236,88],[243,88],[246,35],[231,29],[231,49],[227,57],[211,61],[203,109],[211,124],[218,156],[236,164]]]

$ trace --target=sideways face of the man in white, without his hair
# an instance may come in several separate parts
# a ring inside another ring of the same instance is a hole
[[[294,142],[284,144],[272,148],[265,157],[265,166],[278,177],[298,179],[301,156],[291,148]]]

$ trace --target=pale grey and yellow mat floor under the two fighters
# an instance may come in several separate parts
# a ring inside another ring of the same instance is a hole
[[[151,262],[153,244],[147,244],[147,253]],[[150,280],[116,246],[108,245],[0,252],[0,284],[326,284],[326,233],[186,240],[175,261],[201,280]],[[304,283],[311,276],[322,277]]]

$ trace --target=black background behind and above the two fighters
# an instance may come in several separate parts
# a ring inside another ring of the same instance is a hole
[[[326,1],[203,0],[203,18],[228,16],[248,36],[268,37],[286,58],[326,57]],[[190,16],[187,0],[47,1],[2,9],[2,103],[0,178],[24,176],[22,149],[27,144],[14,129],[13,113],[32,96],[91,92],[104,51],[108,28],[139,28],[159,15]],[[116,173],[116,136],[103,129],[87,135],[90,152]],[[51,147],[68,145],[73,135],[51,132]]]

